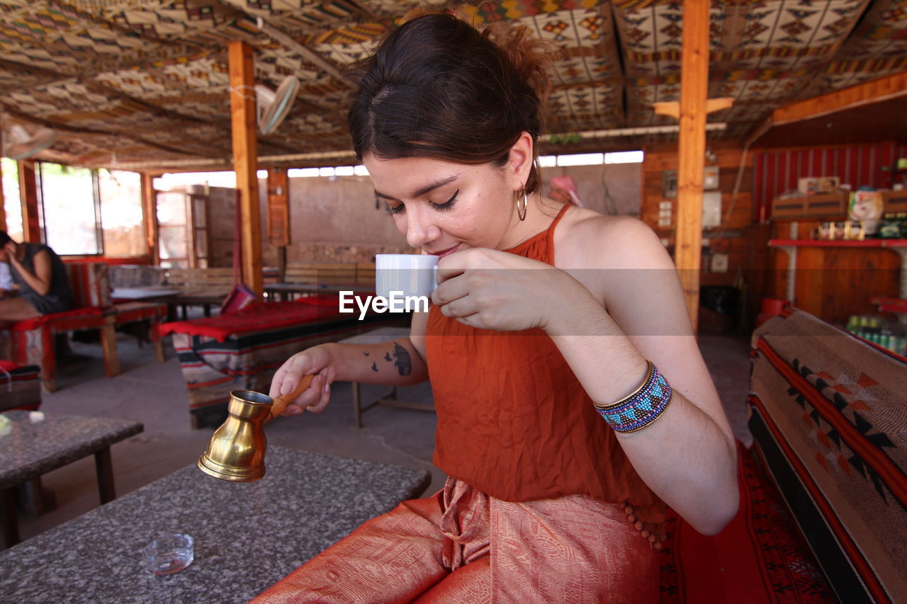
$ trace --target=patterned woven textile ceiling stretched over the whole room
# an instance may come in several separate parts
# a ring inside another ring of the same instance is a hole
[[[443,1],[443,0],[442,0]],[[301,93],[260,156],[347,151],[348,86],[257,18],[342,68],[414,5],[405,0],[0,0],[0,103],[6,124],[52,126],[38,157],[74,165],[164,167],[228,160],[226,44],[255,50],[258,83],[287,74]],[[679,96],[680,0],[500,0],[477,23],[518,20],[560,45],[543,151],[670,141],[596,132],[677,123],[653,102]],[[709,97],[735,99],[710,140],[741,140],[775,107],[907,69],[907,0],[713,0]],[[335,72],[336,73],[336,72]],[[293,161],[331,165],[336,159]]]

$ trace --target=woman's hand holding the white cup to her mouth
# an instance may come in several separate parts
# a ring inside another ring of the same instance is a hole
[[[480,329],[544,329],[571,288],[582,288],[551,265],[496,249],[471,248],[438,262],[432,302],[446,317]],[[588,292],[587,292],[588,293]]]

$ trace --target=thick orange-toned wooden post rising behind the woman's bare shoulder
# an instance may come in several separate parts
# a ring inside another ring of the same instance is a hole
[[[706,155],[709,0],[684,0],[678,135],[678,216],[674,262],[697,332],[702,257],[702,170]]]

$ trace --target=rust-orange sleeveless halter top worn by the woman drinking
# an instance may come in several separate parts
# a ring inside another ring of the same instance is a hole
[[[507,251],[553,265],[554,229],[568,207]],[[447,475],[505,502],[581,494],[664,521],[665,504],[541,329],[477,329],[431,307],[425,352],[438,415],[434,463]]]

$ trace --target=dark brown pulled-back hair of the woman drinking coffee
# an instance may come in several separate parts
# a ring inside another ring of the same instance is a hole
[[[359,161],[372,153],[504,165],[522,132],[533,143],[541,132],[545,44],[523,26],[480,33],[449,14],[401,25],[354,68],[347,119]],[[535,157],[525,185],[539,188]]]

